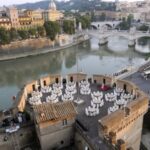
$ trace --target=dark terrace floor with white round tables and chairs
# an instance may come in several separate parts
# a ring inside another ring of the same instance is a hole
[[[73,81],[63,84],[53,83],[48,86],[38,87],[38,91],[30,94],[28,102],[31,106],[35,105],[33,107],[36,108],[36,113],[41,106],[48,107],[50,104],[57,105],[57,103],[66,101],[74,103],[78,112],[76,118],[77,127],[80,128],[82,134],[94,146],[95,150],[99,149],[99,147],[107,150],[109,148],[98,136],[98,121],[120,107],[124,108],[127,102],[134,100],[135,97],[121,88],[112,88],[110,86],[102,88],[102,86],[98,83],[83,80],[79,83]],[[99,95],[98,97],[94,96],[97,94]],[[78,102],[81,103],[79,104]]]

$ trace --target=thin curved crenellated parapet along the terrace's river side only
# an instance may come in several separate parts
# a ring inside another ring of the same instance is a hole
[[[48,75],[46,77],[40,78],[39,80],[32,81],[26,84],[23,90],[20,92],[21,94],[19,94],[19,96],[17,97],[17,101],[14,107],[18,108],[18,111],[24,111],[28,94],[31,94],[39,87],[48,86],[55,82],[67,82],[71,80],[79,82],[84,79],[89,79],[91,80],[91,82],[96,82],[98,84],[103,84],[105,82],[105,84],[109,86],[115,85],[116,87],[125,89],[126,91],[136,95],[137,97],[142,94],[142,92],[139,91],[138,87],[133,83],[124,80],[115,80],[110,76],[93,75],[92,77],[88,78],[88,76],[84,73],[68,74],[66,77],[61,77],[61,75]]]

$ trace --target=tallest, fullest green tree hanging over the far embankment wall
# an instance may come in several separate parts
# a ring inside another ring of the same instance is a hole
[[[56,35],[60,32],[60,25],[57,22],[47,21],[44,23],[46,35],[54,41]]]

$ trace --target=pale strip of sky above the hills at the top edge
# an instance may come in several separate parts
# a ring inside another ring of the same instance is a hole
[[[0,6],[3,5],[12,5],[12,4],[22,4],[22,3],[26,3],[26,2],[30,2],[30,3],[34,3],[34,2],[38,2],[38,1],[42,1],[42,0],[0,0]],[[105,0],[105,1],[111,1],[111,0]],[[114,0],[112,0],[114,1]],[[124,1],[124,0],[120,0],[120,1]],[[136,1],[136,0],[127,0],[127,1]]]

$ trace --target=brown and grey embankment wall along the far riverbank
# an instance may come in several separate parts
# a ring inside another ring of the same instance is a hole
[[[46,37],[12,42],[0,47],[0,61],[54,52],[77,45],[88,39],[87,35],[77,35],[71,41],[66,42],[66,44],[61,44],[61,46],[58,41],[54,43]]]

